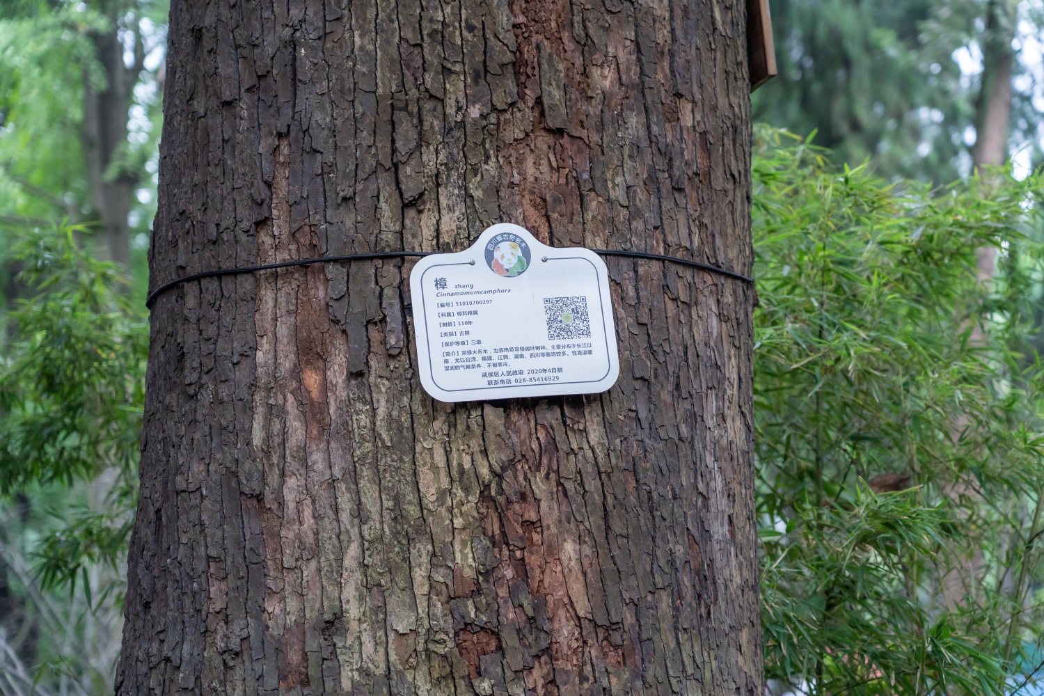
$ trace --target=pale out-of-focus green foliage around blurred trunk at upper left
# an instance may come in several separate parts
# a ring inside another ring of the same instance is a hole
[[[99,212],[85,160],[84,96],[86,85],[103,90],[109,79],[93,40],[115,31],[128,45],[140,41],[148,56],[134,87],[127,140],[105,172],[138,182],[129,215],[136,235],[130,270],[138,285],[145,284],[144,251],[156,212],[165,23],[165,0],[0,2],[0,235],[17,236],[62,220],[87,223],[85,239],[97,231]],[[137,38],[130,40],[133,34]],[[0,290],[13,281],[8,269],[0,269]]]

